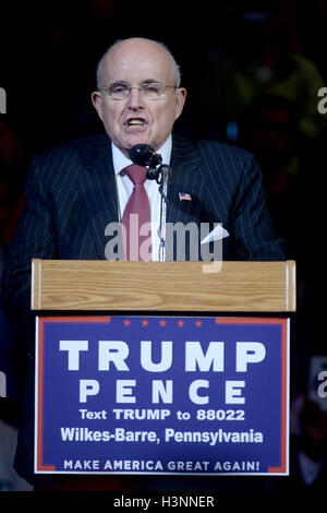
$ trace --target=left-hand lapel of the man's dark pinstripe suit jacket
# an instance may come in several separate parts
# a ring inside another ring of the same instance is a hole
[[[98,136],[85,147],[82,159],[84,167],[78,181],[80,192],[99,259],[105,259],[108,242],[106,227],[110,223],[118,223],[117,183],[107,134]]]

